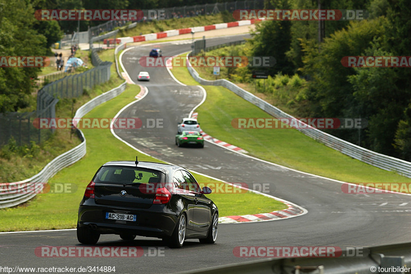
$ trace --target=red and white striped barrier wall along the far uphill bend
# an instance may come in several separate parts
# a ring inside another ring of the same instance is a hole
[[[202,32],[214,29],[226,29],[232,27],[239,27],[239,26],[248,26],[255,24],[255,22],[261,21],[260,19],[252,19],[252,20],[241,20],[236,22],[229,22],[229,23],[220,23],[214,24],[209,26],[201,26],[201,27],[193,27],[193,28],[185,28],[185,29],[172,29],[163,32],[156,32],[156,33],[149,33],[144,35],[138,36],[127,36],[121,37],[116,39],[116,44],[120,43],[134,43],[134,42],[144,42],[144,41],[153,41],[160,38],[166,38],[171,36],[177,36],[181,34],[191,33],[194,32]],[[104,39],[104,45],[107,45],[107,41],[110,44],[114,44],[114,39]]]

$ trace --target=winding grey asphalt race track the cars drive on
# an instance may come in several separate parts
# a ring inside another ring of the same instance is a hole
[[[241,40],[243,36],[209,39],[207,46]],[[126,242],[117,235],[102,235],[97,244],[141,246],[146,254],[141,258],[39,258],[34,254],[34,249],[39,246],[81,246],[76,231],[0,234],[0,257],[5,265],[95,265],[116,266],[116,273],[173,273],[253,260],[236,258],[233,255],[236,246],[344,248],[410,241],[409,195],[344,194],[338,182],[270,165],[209,142],[203,149],[178,148],[174,142],[177,123],[202,100],[202,90],[176,83],[164,67],[142,68],[138,59],[148,56],[154,47],[161,48],[163,56],[174,56],[189,51],[190,46],[176,42],[144,45],[123,54],[123,65],[133,81],[137,82],[139,71],[148,71],[151,81],[140,83],[148,88],[147,96],[130,105],[119,117],[138,117],[143,125],[146,119],[163,119],[164,126],[158,129],[116,130],[116,134],[147,154],[196,172],[229,182],[269,183],[269,194],[302,206],[308,213],[272,222],[221,224],[215,245],[188,240],[181,249],[169,249],[158,239],[137,237],[135,241]],[[201,123],[201,114],[198,118]],[[147,250],[152,247],[164,248],[164,256],[149,257]]]

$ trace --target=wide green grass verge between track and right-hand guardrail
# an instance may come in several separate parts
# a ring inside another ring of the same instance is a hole
[[[197,85],[185,67],[171,70],[182,83]],[[289,168],[348,182],[411,182],[411,178],[367,165],[326,147],[294,129],[234,129],[234,118],[272,117],[220,86],[206,86],[206,101],[197,108],[207,134],[237,145],[249,155]]]

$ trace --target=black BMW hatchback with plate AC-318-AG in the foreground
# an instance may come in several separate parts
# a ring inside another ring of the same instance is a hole
[[[96,244],[100,234],[163,239],[179,248],[185,239],[213,244],[218,209],[191,173],[164,163],[111,161],[90,181],[79,208],[77,239]]]

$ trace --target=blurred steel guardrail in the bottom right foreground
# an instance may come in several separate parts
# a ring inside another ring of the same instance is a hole
[[[207,267],[194,271],[183,271],[182,274],[236,274],[236,273],[278,273],[278,274],[375,274],[375,273],[404,273],[409,271],[382,271],[379,267],[397,269],[410,268],[411,243],[360,248],[360,256],[357,251],[353,257],[348,257],[347,252],[342,252],[341,257],[294,257],[294,258],[270,258],[257,259],[248,262],[240,262],[215,267]],[[246,259],[245,259],[246,260]],[[372,271],[374,270],[375,271]]]

